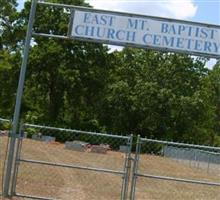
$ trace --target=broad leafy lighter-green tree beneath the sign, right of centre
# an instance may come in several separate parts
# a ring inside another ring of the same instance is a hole
[[[212,127],[208,123],[213,114],[208,106],[210,96],[202,84],[208,73],[205,60],[130,48],[114,56],[115,67],[101,115],[109,130],[206,142],[205,134],[200,140],[195,134]]]

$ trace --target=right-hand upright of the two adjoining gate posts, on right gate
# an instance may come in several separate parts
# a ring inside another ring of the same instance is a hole
[[[136,173],[137,173],[137,170],[138,170],[140,150],[141,150],[141,141],[140,141],[140,135],[138,135],[137,143],[136,143],[136,152],[135,152],[135,158],[134,158],[134,165],[133,165],[133,170],[132,170],[130,200],[135,199],[135,189],[136,189],[136,181],[137,181]]]

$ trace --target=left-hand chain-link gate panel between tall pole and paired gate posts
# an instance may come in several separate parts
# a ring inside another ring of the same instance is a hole
[[[127,198],[132,136],[24,124],[22,138],[16,196]]]

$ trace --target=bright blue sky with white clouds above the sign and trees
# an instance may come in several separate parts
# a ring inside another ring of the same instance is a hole
[[[18,0],[18,9],[25,0]],[[97,9],[122,11],[220,25],[220,0],[85,0]],[[65,2],[65,0],[63,1]],[[111,46],[112,49],[118,49]],[[119,48],[120,49],[120,48]],[[210,59],[211,68],[216,59]]]

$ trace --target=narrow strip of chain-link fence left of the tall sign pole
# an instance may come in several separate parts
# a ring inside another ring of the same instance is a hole
[[[8,149],[8,134],[10,127],[10,120],[0,118],[0,196],[3,194],[3,174],[5,171],[5,160]]]

